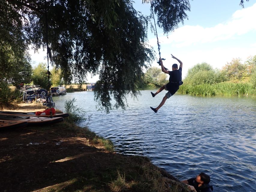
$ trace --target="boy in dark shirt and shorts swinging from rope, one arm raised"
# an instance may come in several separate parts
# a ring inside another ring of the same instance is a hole
[[[171,55],[172,55],[172,54],[171,54]],[[174,94],[176,93],[176,91],[178,91],[179,85],[182,85],[182,83],[183,83],[183,82],[181,81],[182,62],[181,62],[178,58],[174,57],[173,55],[172,55],[172,58],[174,58],[174,59],[176,59],[177,61],[179,61],[179,70],[178,70],[178,65],[177,65],[177,64],[173,64],[173,66],[172,66],[172,71],[165,70],[165,69],[164,69],[164,65],[163,65],[163,61],[162,61],[161,58],[159,58],[159,62],[160,62],[160,64],[161,64],[161,69],[162,69],[162,71],[163,71],[164,73],[169,74],[169,75],[170,75],[170,78],[169,78],[169,82],[168,82],[166,85],[164,85],[164,86],[162,86],[161,88],[159,88],[158,91],[156,91],[156,93],[152,93],[152,92],[151,92],[152,97],[155,97],[158,93],[160,93],[160,92],[163,91],[164,89],[165,89],[166,91],[168,91],[168,92],[165,94],[165,96],[164,96],[162,102],[158,105],[158,107],[156,107],[156,108],[150,107],[155,113],[157,113],[157,111],[160,109],[160,107],[162,107],[162,106],[164,105],[164,103],[165,103],[165,101],[166,101],[167,99],[169,99],[172,95],[174,95]]]

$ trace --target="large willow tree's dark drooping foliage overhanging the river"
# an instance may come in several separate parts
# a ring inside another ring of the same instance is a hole
[[[142,2],[151,2],[165,33],[176,29],[190,10],[189,0]],[[107,112],[125,109],[127,95],[139,94],[143,69],[154,59],[146,43],[152,14],[141,15],[130,0],[0,0],[0,14],[0,42],[13,38],[20,40],[18,47],[31,44],[35,51],[48,45],[50,63],[66,83],[99,74],[95,100]]]

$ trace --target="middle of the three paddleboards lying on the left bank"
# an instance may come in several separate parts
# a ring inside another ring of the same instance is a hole
[[[34,117],[34,116],[11,116],[11,115],[1,115],[0,121],[20,121],[28,122],[28,125],[47,125],[52,123],[58,123],[63,121],[63,117]]]

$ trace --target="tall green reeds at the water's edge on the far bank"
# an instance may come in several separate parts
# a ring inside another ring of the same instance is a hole
[[[178,93],[198,95],[198,96],[213,96],[213,95],[224,95],[224,96],[242,96],[251,95],[256,96],[256,89],[250,83],[234,83],[234,82],[220,82],[216,84],[200,84],[191,85],[183,84],[179,87]]]

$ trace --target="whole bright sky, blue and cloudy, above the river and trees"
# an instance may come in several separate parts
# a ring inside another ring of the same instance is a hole
[[[135,0],[134,8],[143,14],[149,14],[149,4],[142,4],[142,0]],[[184,25],[168,34],[168,38],[161,29],[157,29],[161,44],[161,56],[166,58],[164,65],[171,68],[176,62],[171,58],[173,54],[183,62],[184,78],[188,68],[197,63],[207,62],[213,68],[221,69],[232,58],[245,61],[249,56],[256,55],[256,0],[239,6],[240,0],[194,0],[190,1],[191,11],[187,12],[188,20]],[[149,29],[149,44],[157,51],[157,39]],[[31,51],[35,64],[46,62],[45,52],[39,54]],[[159,58],[158,54],[156,55]],[[159,67],[153,62],[152,67]],[[95,82],[98,77],[88,76],[88,82]]]

